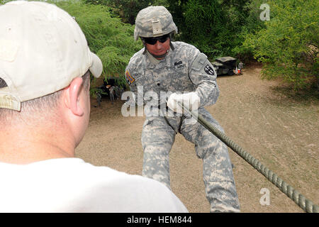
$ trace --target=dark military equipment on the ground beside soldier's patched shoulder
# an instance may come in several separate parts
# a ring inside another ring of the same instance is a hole
[[[234,57],[219,57],[212,63],[217,75],[228,74],[233,75],[236,70],[237,59]]]

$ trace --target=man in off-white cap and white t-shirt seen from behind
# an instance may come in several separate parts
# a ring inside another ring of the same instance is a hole
[[[102,72],[57,6],[0,6],[0,212],[187,212],[161,183],[74,157]],[[106,150],[107,152],[107,150]]]

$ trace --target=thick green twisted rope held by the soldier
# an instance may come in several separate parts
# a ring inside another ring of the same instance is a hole
[[[179,104],[179,102],[177,103]],[[278,187],[281,190],[281,192],[284,192],[286,196],[289,196],[289,198],[292,199],[299,207],[301,207],[303,211],[306,211],[307,213],[318,213],[318,205],[313,204],[312,201],[306,199],[306,197],[300,194],[296,189],[293,189],[293,187],[284,182],[284,180],[278,177],[274,172],[272,172],[272,170],[269,170],[267,167],[262,165],[262,163],[259,162],[259,160],[252,157],[250,153],[247,153],[247,151],[243,150],[239,145],[234,143],[233,140],[230,140],[230,138],[228,138],[228,136],[225,135],[225,133],[219,131],[218,128],[206,121],[206,119],[204,119],[203,116],[195,113],[194,111],[189,111],[189,109],[187,109],[182,104],[179,105],[182,106],[187,113],[191,114],[193,118],[197,119],[198,123],[201,123],[203,127],[205,127],[206,129],[208,129],[208,131],[216,135],[217,138],[219,138],[221,141],[223,141],[223,143],[228,145],[229,148],[235,151],[237,155],[240,155],[240,157],[242,157],[246,162],[252,165],[254,169],[256,169],[258,172],[264,175],[264,177],[269,179],[269,181],[276,185],[276,187]]]

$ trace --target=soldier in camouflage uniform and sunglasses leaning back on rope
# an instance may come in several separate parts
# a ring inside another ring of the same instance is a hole
[[[147,92],[155,92],[159,100],[162,100],[160,93],[167,92],[172,94],[168,96],[169,109],[177,111],[172,106],[172,101],[178,101],[176,97],[179,100],[193,99],[188,107],[196,106],[191,105],[195,100],[199,105],[193,109],[223,131],[203,107],[217,101],[216,72],[206,55],[193,45],[172,42],[174,33],[177,33],[177,26],[164,6],[149,6],[138,13],[134,36],[135,40],[140,37],[145,47],[131,57],[125,70],[130,90],[135,94],[135,99],[130,101],[147,105],[151,101],[143,96]],[[138,96],[143,100],[136,99]],[[194,143],[196,155],[203,160],[203,181],[210,211],[239,212],[228,148],[187,114],[169,115],[167,111],[166,116],[146,114],[142,128],[142,175],[157,179],[170,188],[169,152],[176,133]]]

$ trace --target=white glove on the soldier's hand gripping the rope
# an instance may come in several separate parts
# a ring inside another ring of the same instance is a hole
[[[172,111],[179,114],[185,113],[183,108],[177,104],[177,101],[180,104],[183,104],[190,111],[195,111],[196,109],[198,109],[200,104],[200,99],[196,92],[189,92],[185,94],[173,93],[167,100],[167,106],[169,107],[169,109],[172,109]]]

